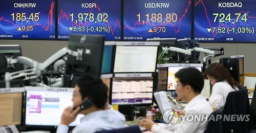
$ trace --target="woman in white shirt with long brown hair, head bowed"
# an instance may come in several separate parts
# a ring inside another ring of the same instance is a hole
[[[229,92],[238,90],[239,83],[235,81],[221,63],[211,63],[204,72],[204,77],[210,80],[212,92],[209,103],[214,111],[223,109]]]

